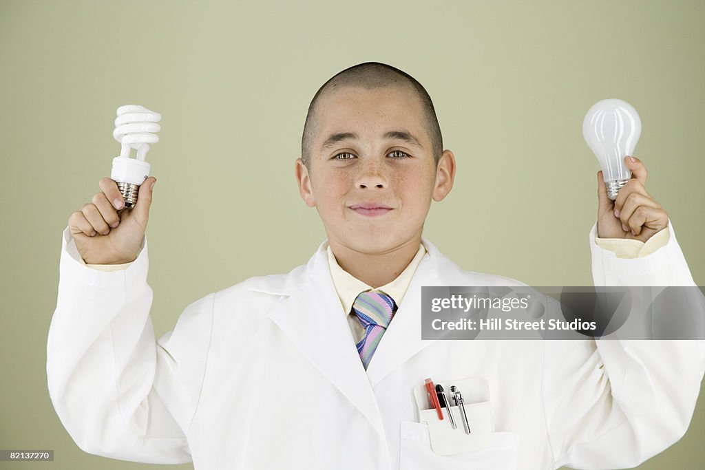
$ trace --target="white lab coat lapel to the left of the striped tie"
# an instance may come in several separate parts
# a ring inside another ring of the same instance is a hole
[[[302,285],[278,302],[269,317],[384,438],[379,407],[336,295],[325,246],[307,264]]]

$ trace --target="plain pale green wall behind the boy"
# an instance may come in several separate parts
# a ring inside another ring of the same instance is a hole
[[[0,448],[54,449],[5,469],[138,469],[82,452],[47,392],[61,231],[109,176],[115,111],[162,114],[147,234],[157,336],[183,308],[307,261],[324,231],[293,161],[310,99],[364,61],[427,88],[458,160],[424,235],[472,271],[591,285],[599,169],[582,120],[635,106],[635,155],[705,284],[705,3],[694,1],[0,0]],[[641,469],[705,459],[705,405]],[[192,464],[174,468],[188,469]]]

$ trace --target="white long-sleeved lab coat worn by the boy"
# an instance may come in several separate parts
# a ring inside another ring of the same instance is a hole
[[[668,245],[617,259],[590,234],[595,285],[694,285]],[[421,340],[422,285],[523,285],[464,271],[422,240],[403,302],[362,367],[326,243],[288,274],[186,307],[154,341],[147,241],[126,270],[83,266],[63,233],[47,345],[49,394],[86,452],[206,469],[582,469],[635,466],[685,433],[701,341]],[[491,447],[441,456],[412,389],[481,377]]]

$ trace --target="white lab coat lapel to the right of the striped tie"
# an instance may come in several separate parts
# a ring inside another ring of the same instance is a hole
[[[367,366],[367,376],[373,387],[407,359],[435,341],[421,339],[421,287],[448,285],[448,280],[441,277],[443,260],[438,249],[428,240],[422,239],[422,242],[428,255],[419,263],[404,299]]]

